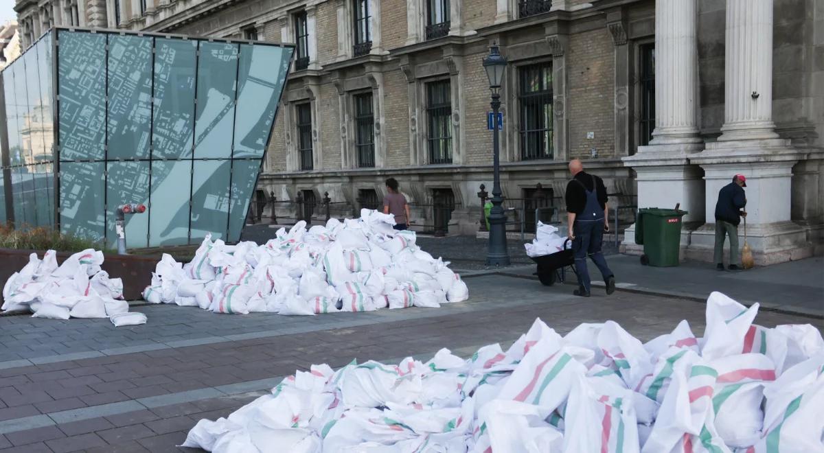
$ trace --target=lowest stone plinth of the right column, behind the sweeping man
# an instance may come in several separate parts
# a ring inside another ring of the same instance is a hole
[[[747,226],[747,243],[757,266],[786,263],[816,255],[816,247],[807,241],[807,231],[794,222],[776,222]],[[738,226],[738,246],[744,246],[744,224]],[[686,258],[714,261],[715,224],[707,223],[693,231]],[[723,262],[728,264],[729,241],[724,243]]]

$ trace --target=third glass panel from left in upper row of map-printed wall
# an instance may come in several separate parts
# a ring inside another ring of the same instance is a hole
[[[192,156],[197,45],[197,41],[190,40],[155,40],[154,158]]]

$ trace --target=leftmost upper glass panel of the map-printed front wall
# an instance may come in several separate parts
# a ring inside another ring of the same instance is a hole
[[[59,31],[60,159],[105,156],[105,35]]]

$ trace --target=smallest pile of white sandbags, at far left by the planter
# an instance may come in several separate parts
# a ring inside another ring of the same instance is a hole
[[[123,281],[101,270],[103,252],[87,249],[58,266],[57,253],[43,259],[33,253],[29,263],[13,273],[3,287],[3,311],[32,311],[35,318],[109,318],[113,324],[146,322],[142,313],[129,313],[123,300]]]

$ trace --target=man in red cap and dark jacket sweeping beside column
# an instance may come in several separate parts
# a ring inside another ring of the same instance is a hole
[[[719,201],[715,203],[715,263],[716,269],[723,270],[723,243],[729,235],[729,270],[741,270],[741,257],[738,255],[738,224],[741,217],[747,217],[747,178],[744,175],[733,176],[733,182],[719,191]]]

